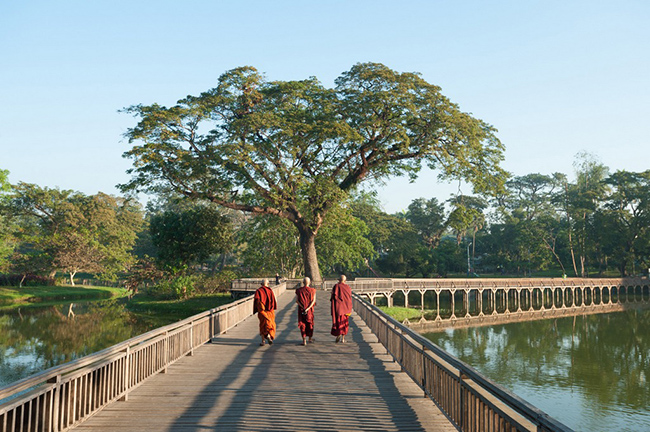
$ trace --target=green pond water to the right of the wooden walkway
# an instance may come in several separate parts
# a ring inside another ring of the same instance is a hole
[[[579,431],[650,430],[650,311],[425,336]]]

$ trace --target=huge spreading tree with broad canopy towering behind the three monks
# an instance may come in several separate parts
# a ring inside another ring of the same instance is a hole
[[[316,236],[361,182],[423,164],[486,191],[505,176],[492,126],[459,110],[417,73],[357,64],[328,89],[315,78],[267,81],[252,67],[175,106],[135,105],[125,190],[161,187],[290,221],[305,273],[321,279]]]

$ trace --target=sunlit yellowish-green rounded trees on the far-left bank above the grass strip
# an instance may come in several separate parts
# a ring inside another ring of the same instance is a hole
[[[142,226],[140,206],[98,193],[42,188],[19,183],[8,208],[20,220],[21,246],[13,259],[21,273],[62,270],[111,276],[124,270]]]

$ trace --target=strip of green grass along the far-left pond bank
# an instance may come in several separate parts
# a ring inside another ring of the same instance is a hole
[[[123,288],[98,286],[0,287],[0,309],[46,306],[70,300],[101,300],[125,297]]]

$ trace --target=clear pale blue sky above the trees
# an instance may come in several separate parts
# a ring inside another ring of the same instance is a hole
[[[0,2],[0,169],[12,182],[117,193],[133,104],[172,105],[251,65],[326,86],[358,62],[420,72],[494,125],[514,175],[587,151],[650,169],[650,2]],[[379,188],[389,212],[446,200],[424,171]],[[462,187],[464,193],[471,193]]]

